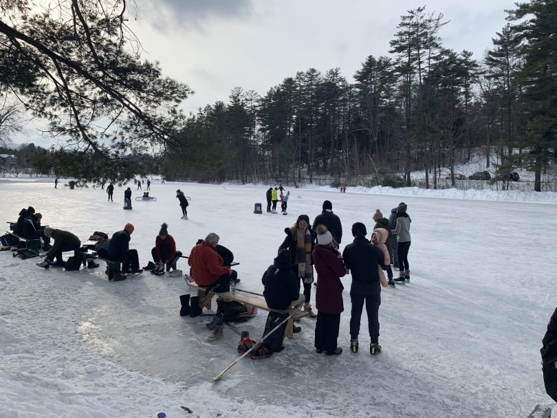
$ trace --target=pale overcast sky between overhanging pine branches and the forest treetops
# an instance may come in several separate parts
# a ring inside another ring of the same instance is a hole
[[[144,58],[160,61],[165,75],[195,94],[183,104],[195,112],[230,90],[243,87],[262,96],[298,71],[325,73],[340,67],[352,75],[369,55],[389,54],[400,16],[426,5],[450,21],[444,45],[481,58],[505,25],[512,0],[137,0],[130,25]],[[137,17],[137,20],[135,20]],[[32,135],[43,145],[50,140]]]

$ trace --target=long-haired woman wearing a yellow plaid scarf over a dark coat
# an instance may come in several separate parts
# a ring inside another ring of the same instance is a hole
[[[304,287],[304,311],[309,312],[309,316],[315,318],[317,314],[312,311],[312,283],[314,282],[314,259],[312,252],[315,248],[315,236],[309,224],[307,214],[301,214],[292,228],[285,228],[286,238],[279,247],[279,250],[286,248],[292,254],[292,271],[298,277],[298,289],[301,284]]]

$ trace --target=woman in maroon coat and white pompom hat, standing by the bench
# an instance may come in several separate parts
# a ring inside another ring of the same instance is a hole
[[[318,225],[317,245],[313,256],[317,271],[317,290],[315,295],[317,308],[317,324],[315,327],[315,348],[318,353],[338,355],[342,348],[337,347],[340,313],[345,310],[342,303],[342,282],[345,276],[345,263],[342,255],[335,250],[336,243],[327,227]]]

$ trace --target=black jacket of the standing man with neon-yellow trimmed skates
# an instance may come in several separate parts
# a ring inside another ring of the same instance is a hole
[[[342,252],[345,267],[350,270],[352,281],[356,283],[379,284],[378,265],[385,270],[385,258],[382,251],[371,245],[365,236],[358,236]]]

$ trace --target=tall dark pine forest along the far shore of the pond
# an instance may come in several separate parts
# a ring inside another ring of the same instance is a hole
[[[522,3],[474,58],[443,45],[443,14],[409,10],[391,55],[368,56],[354,83],[329,69],[287,77],[265,96],[232,90],[228,101],[199,109],[189,135],[205,131],[232,155],[219,170],[169,177],[312,183],[326,176],[369,185],[410,186],[413,170],[433,173],[474,151],[499,155],[500,173],[540,174],[557,157],[557,1]],[[493,151],[495,150],[495,151]],[[396,173],[402,173],[397,175]],[[371,183],[371,184],[370,184]]]

